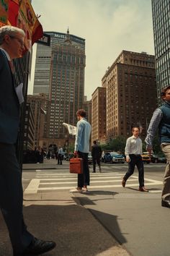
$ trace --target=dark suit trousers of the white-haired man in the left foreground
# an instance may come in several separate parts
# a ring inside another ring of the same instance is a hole
[[[0,208],[16,254],[23,252],[33,239],[24,224],[22,201],[22,174],[15,147],[0,143]]]

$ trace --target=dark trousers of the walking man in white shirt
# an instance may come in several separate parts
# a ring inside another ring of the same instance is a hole
[[[130,163],[128,163],[128,171],[124,176],[125,181],[133,175],[135,170],[135,166],[138,168],[138,180],[139,180],[139,187],[144,186],[144,168],[143,168],[143,161],[141,155],[129,155],[130,156]]]

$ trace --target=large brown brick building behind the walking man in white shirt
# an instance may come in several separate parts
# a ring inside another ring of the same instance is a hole
[[[122,51],[102,78],[106,89],[107,140],[131,135],[133,125],[146,136],[156,108],[155,58],[146,53]]]

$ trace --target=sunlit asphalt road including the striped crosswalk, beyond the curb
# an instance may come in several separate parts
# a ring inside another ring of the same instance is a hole
[[[121,180],[127,164],[102,164],[102,174],[98,169],[96,174],[91,174],[89,193],[72,196],[79,205],[89,209],[130,255],[169,256],[169,209],[161,207],[165,166],[164,163],[145,164],[145,185],[149,192],[139,192],[137,170],[123,188]],[[32,187],[37,194],[68,192],[76,187],[76,175],[69,174],[66,161],[62,166],[53,160],[45,161],[29,170],[25,165],[23,186],[27,195]]]

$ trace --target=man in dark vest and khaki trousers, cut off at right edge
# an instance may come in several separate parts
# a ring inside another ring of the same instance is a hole
[[[153,112],[145,141],[146,150],[151,155],[151,151],[153,150],[153,138],[158,128],[161,150],[166,156],[161,205],[170,208],[170,85],[162,89],[161,98],[164,104],[160,108],[156,108]]]

